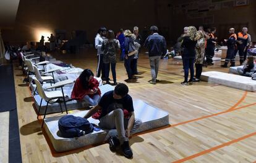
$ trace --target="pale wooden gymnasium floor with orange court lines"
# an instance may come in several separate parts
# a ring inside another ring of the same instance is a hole
[[[53,54],[58,60],[95,72],[95,50],[80,54]],[[204,71],[224,71],[221,62]],[[254,92],[199,82],[182,86],[182,63],[161,60],[158,79],[150,85],[148,57],[140,54],[141,73],[127,83],[130,95],[169,113],[171,127],[143,133],[130,140],[134,158],[109,151],[108,144],[55,153],[36,119],[33,98],[14,66],[23,162],[254,162],[256,161],[256,100]],[[127,79],[124,63],[117,63],[117,82]],[[126,82],[124,82],[126,83]],[[74,111],[69,111],[70,113]],[[51,114],[49,116],[56,116]]]

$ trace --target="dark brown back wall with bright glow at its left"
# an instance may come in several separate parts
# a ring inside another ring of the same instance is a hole
[[[88,40],[93,42],[100,26],[114,31],[119,28],[140,29],[155,23],[155,0],[133,1],[84,1],[84,0],[20,0],[14,30],[2,31],[9,42],[39,41],[41,33],[54,30],[87,31]],[[45,34],[45,35],[46,35]]]

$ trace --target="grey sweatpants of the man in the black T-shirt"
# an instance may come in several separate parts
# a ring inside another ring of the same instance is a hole
[[[129,119],[124,118],[124,111],[122,109],[114,109],[110,113],[106,114],[106,116],[101,117],[99,126],[103,129],[116,129],[118,138],[120,143],[122,144],[124,141],[128,141],[129,138],[126,137],[125,129],[127,129]],[[134,121],[134,126],[130,130],[130,133],[134,133],[142,124],[140,119],[136,119]]]

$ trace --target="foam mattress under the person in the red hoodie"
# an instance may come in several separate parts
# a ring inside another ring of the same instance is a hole
[[[101,90],[101,95],[103,95],[104,93],[106,93],[110,90],[114,90],[114,87],[112,85],[109,85],[109,84],[102,85],[99,88]],[[70,97],[71,91],[72,90],[64,89],[64,95],[67,95],[67,96]],[[39,95],[35,95],[34,98],[35,98],[35,108],[38,111],[39,106],[40,106],[41,97]],[[85,108],[85,107],[88,106],[88,103],[86,101],[72,100],[72,101],[67,101],[66,105],[67,105],[67,110],[72,110],[72,109]],[[62,106],[62,109],[64,111],[65,110],[64,103],[61,103],[61,106]],[[45,109],[46,109],[46,101],[43,100],[42,104],[41,104],[41,109],[40,109],[39,114],[45,114]],[[58,113],[58,112],[61,112],[61,108],[59,106],[59,103],[53,103],[53,104],[48,105],[46,113]]]

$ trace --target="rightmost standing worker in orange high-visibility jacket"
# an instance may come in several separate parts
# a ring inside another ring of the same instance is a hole
[[[235,56],[237,54],[239,54],[239,58],[240,58],[240,65],[242,65],[242,63],[244,63],[244,55],[246,55],[245,50],[247,47],[247,42],[248,42],[248,34],[247,34],[248,29],[246,27],[242,28],[242,32],[239,32],[237,34],[237,49],[235,50]]]

